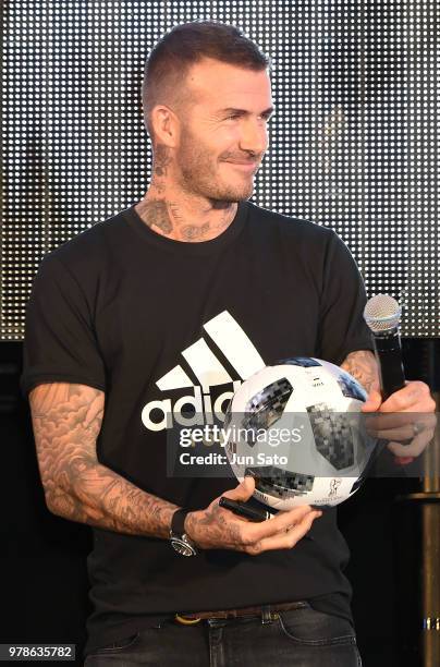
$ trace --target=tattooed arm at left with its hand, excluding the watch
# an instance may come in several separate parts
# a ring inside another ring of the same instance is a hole
[[[38,466],[52,513],[120,533],[169,536],[178,506],[147,494],[97,460],[102,391],[52,383],[34,388],[29,401]],[[246,500],[254,488],[254,480],[247,477],[224,495]],[[257,555],[292,548],[319,514],[306,505],[257,525],[223,509],[216,498],[207,509],[187,514],[185,530],[201,548]]]

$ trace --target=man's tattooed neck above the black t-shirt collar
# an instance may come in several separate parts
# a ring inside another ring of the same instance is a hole
[[[234,219],[237,204],[190,201],[154,177],[135,209],[152,231],[174,241],[197,243],[220,235]]]

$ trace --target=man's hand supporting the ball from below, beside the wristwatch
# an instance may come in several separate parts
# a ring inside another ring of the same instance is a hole
[[[233,500],[248,500],[254,489],[255,480],[247,476],[222,495]],[[190,512],[185,519],[186,534],[203,549],[233,549],[252,556],[269,549],[291,549],[322,514],[304,505],[254,523],[220,507],[219,499],[220,496],[205,510]]]

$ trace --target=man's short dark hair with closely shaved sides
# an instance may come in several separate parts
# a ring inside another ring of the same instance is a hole
[[[241,68],[269,69],[271,59],[243,32],[215,21],[193,21],[175,25],[155,45],[145,63],[142,102],[148,134],[152,137],[151,110],[172,97],[184,96],[181,85],[190,68],[204,58],[212,58]]]

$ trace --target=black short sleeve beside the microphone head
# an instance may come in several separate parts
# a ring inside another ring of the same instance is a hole
[[[372,336],[364,319],[366,301],[356,263],[342,239],[332,231],[320,300],[320,359],[340,365],[350,352],[374,350]]]

